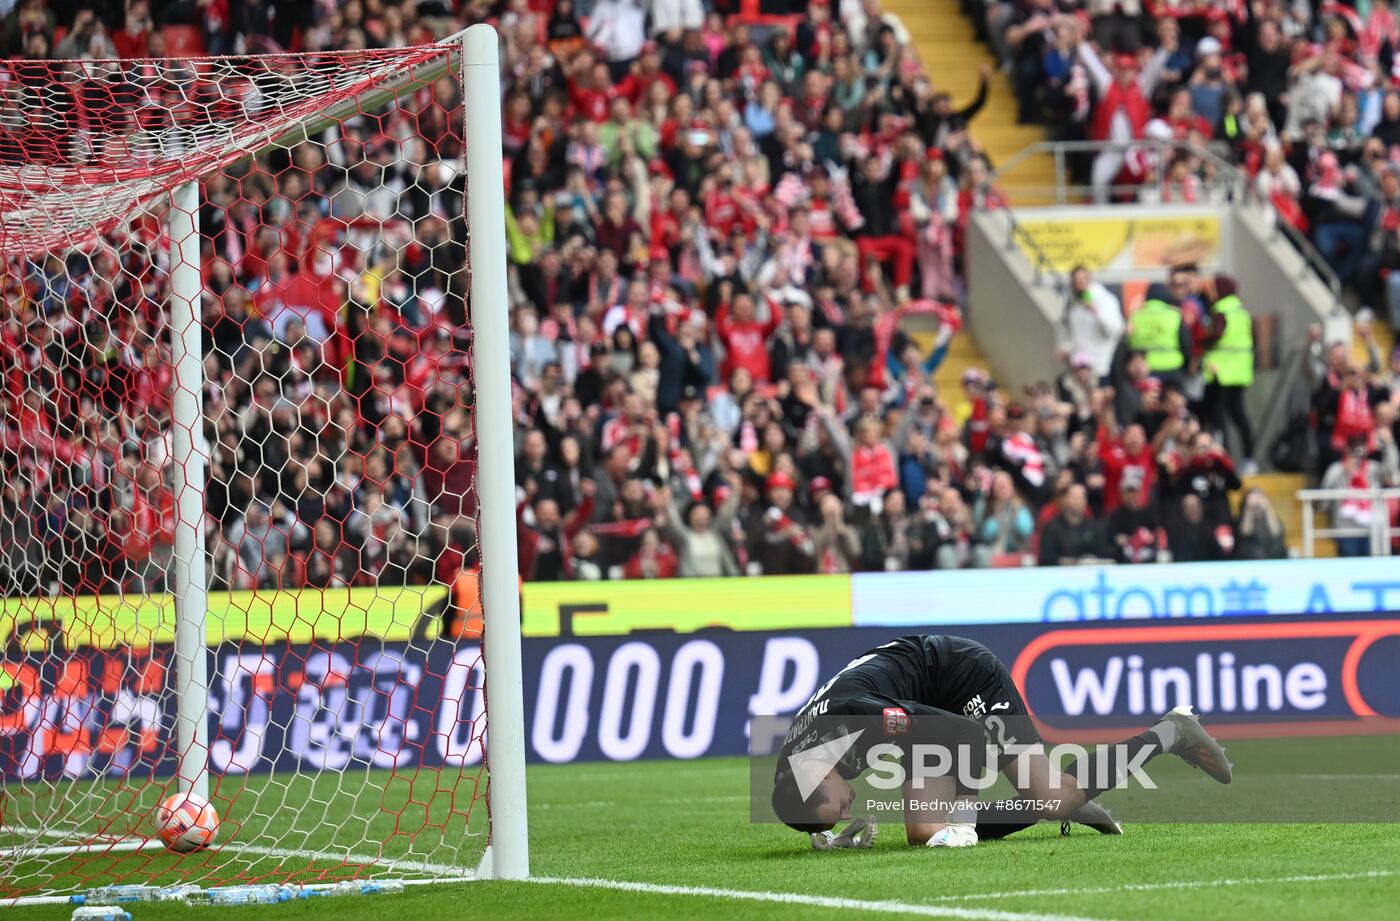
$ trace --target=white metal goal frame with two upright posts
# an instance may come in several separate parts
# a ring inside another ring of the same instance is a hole
[[[511,420],[510,318],[505,260],[505,193],[501,154],[501,81],[498,36],[487,24],[473,25],[441,43],[461,46],[465,101],[465,209],[469,234],[472,379],[477,445],[477,535],[482,557],[486,662],[487,847],[475,879],[529,876],[525,789],[525,712],[521,665],[521,610],[517,582],[515,458]],[[445,62],[445,57],[444,57]],[[392,101],[405,87],[433,80],[451,67],[434,62],[406,71],[365,94],[294,125],[269,132],[258,154],[298,136],[315,134],[354,108]],[[175,602],[175,694],[181,791],[209,796],[209,656],[206,634],[207,565],[204,532],[206,458],[200,304],[199,181],[171,192],[171,460],[178,502],[171,581]],[[102,850],[133,850],[118,844]],[[87,845],[73,848],[87,851]],[[459,880],[461,876],[455,878]],[[431,880],[423,880],[431,882]],[[447,880],[444,880],[447,882]],[[0,900],[4,906],[57,904],[63,897]]]

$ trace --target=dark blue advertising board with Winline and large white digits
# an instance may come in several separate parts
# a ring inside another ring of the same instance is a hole
[[[638,633],[524,645],[533,761],[742,754],[749,719],[790,714],[883,627]],[[1368,732],[1400,718],[1400,617],[973,624],[1047,731],[1117,729],[1193,703],[1221,732]],[[475,644],[364,637],[221,644],[211,655],[217,773],[472,764]],[[6,780],[172,768],[171,647],[13,644],[0,665]],[[1368,722],[1369,721],[1369,722]]]

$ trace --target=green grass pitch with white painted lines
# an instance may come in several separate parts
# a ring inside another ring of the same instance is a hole
[[[1175,759],[1165,759],[1173,763],[1162,770],[1156,770],[1161,761],[1154,761],[1154,773],[1161,775],[1163,791],[1170,785],[1183,802],[1198,805],[1219,795],[1302,799],[1309,787],[1316,791],[1319,784],[1336,789],[1347,782],[1365,782],[1382,791],[1382,802],[1400,808],[1400,774],[1393,773],[1393,766],[1389,774],[1372,763],[1364,774],[1282,782],[1282,775],[1270,773],[1270,766],[1280,760],[1281,745],[1287,743],[1231,745],[1239,773],[1229,788],[1211,784]],[[1345,740],[1338,745],[1348,746]],[[417,886],[402,896],[228,910],[136,904],[132,914],[134,921],[172,921],[188,918],[190,911],[248,921],[312,921],[330,915],[336,921],[386,917],[669,921],[699,915],[812,921],[869,914],[988,921],[1187,917],[1364,921],[1396,918],[1400,904],[1400,824],[1128,824],[1120,838],[1100,837],[1088,829],[1075,829],[1071,837],[1061,838],[1057,824],[1042,823],[976,848],[930,851],[906,847],[903,827],[888,822],[872,851],[818,854],[801,834],[781,826],[750,824],[748,774],[743,759],[532,767],[532,871],[554,882]],[[431,809],[442,795],[440,791],[452,791],[459,777],[420,774],[419,784],[426,787],[417,791],[385,789],[377,775],[339,780],[335,788],[322,788],[323,781],[308,788],[298,788],[298,781],[281,781],[276,792],[279,802],[284,801],[283,847],[363,851],[356,844],[370,836],[391,841],[386,854],[410,859],[455,854],[459,865],[470,866],[480,845],[477,836],[433,847],[420,841],[414,847],[407,837],[400,841],[386,834],[392,831],[392,810],[400,803],[430,803]],[[111,791],[105,795],[111,798]],[[1109,794],[1110,806],[1114,796],[1121,794]],[[336,815],[346,810],[337,809],[337,799],[358,806],[361,816],[371,803],[382,803],[384,809],[374,817],[340,826]],[[265,796],[265,808],[267,802]],[[473,829],[483,810],[484,803],[476,802]],[[253,833],[253,826],[245,829]],[[279,837],[279,829],[270,823],[256,833],[263,843]],[[396,841],[402,844],[398,851]],[[7,844],[13,841],[0,840],[0,847]],[[253,875],[318,865],[305,858],[248,854],[237,859],[244,873]],[[335,861],[321,865],[333,866]],[[161,880],[181,878],[175,858],[161,852],[116,858],[112,869],[137,866]],[[14,872],[22,876],[32,869],[21,865]],[[94,869],[90,864],[85,872]],[[606,882],[581,885],[581,880]],[[616,882],[650,887],[602,887]],[[692,887],[699,892],[689,892]],[[799,901],[781,901],[785,893]],[[55,921],[69,914],[66,907],[4,908],[0,921]]]

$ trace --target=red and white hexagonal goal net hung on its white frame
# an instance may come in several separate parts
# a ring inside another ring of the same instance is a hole
[[[0,64],[0,899],[524,875],[496,55]]]

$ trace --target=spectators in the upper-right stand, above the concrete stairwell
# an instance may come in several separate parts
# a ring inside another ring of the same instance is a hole
[[[1389,0],[965,0],[1012,74],[1025,122],[1117,141],[1081,164],[1098,196],[1228,193],[1200,153],[1243,171],[1400,329],[1400,18]],[[1138,144],[1134,144],[1138,141]]]

